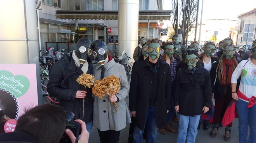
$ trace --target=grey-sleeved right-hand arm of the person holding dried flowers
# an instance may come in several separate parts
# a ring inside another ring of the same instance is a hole
[[[126,77],[125,67],[120,66],[119,68],[119,79],[121,84],[121,89],[119,90],[119,93],[116,94],[116,97],[119,99],[119,101],[123,100],[128,96],[129,93],[129,84]]]

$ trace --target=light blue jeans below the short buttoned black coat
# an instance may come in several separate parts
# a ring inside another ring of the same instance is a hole
[[[195,137],[197,135],[197,126],[201,115],[184,116],[179,114],[179,129],[177,143],[195,143]],[[189,128],[189,129],[188,129]]]

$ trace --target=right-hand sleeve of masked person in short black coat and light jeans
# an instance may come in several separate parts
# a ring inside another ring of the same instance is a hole
[[[211,106],[212,90],[211,90],[211,79],[208,71],[205,72],[205,76],[206,77],[204,79],[204,84],[202,87],[204,92],[204,106],[209,108]]]

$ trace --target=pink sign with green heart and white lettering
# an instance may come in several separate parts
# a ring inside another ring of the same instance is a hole
[[[38,105],[36,65],[1,65],[0,133],[13,131],[14,120],[24,114],[25,109],[36,105]]]

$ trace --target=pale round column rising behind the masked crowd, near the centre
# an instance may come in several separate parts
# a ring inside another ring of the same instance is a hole
[[[138,46],[139,0],[118,0],[118,5],[118,54],[125,50],[129,57],[133,57]]]

